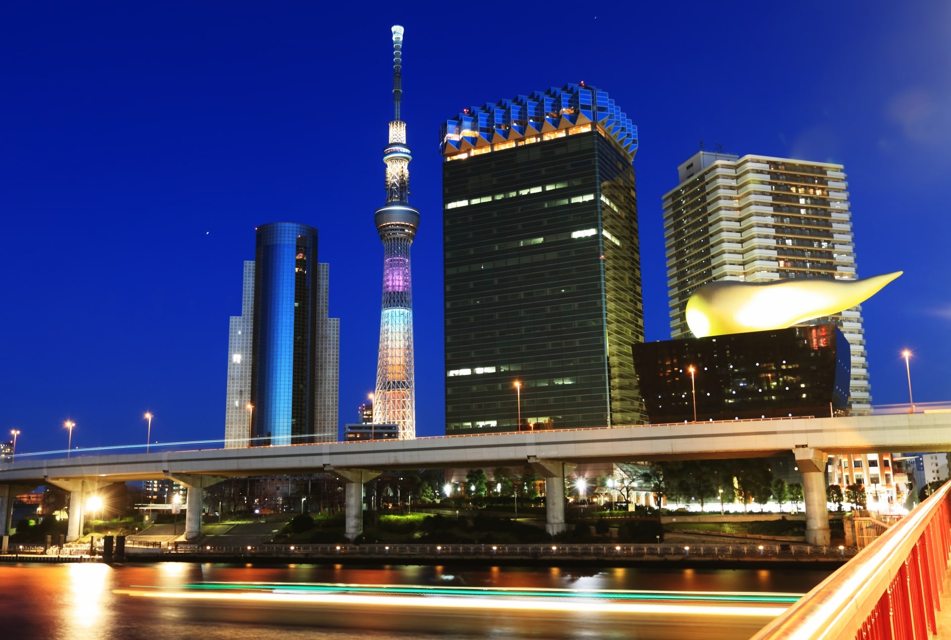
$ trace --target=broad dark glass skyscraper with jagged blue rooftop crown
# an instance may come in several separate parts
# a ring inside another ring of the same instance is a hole
[[[643,421],[636,128],[569,85],[441,137],[447,433]]]

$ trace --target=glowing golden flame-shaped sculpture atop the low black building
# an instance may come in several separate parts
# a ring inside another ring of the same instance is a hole
[[[896,271],[853,281],[710,282],[687,301],[687,324],[697,338],[786,329],[851,308],[901,275]]]

